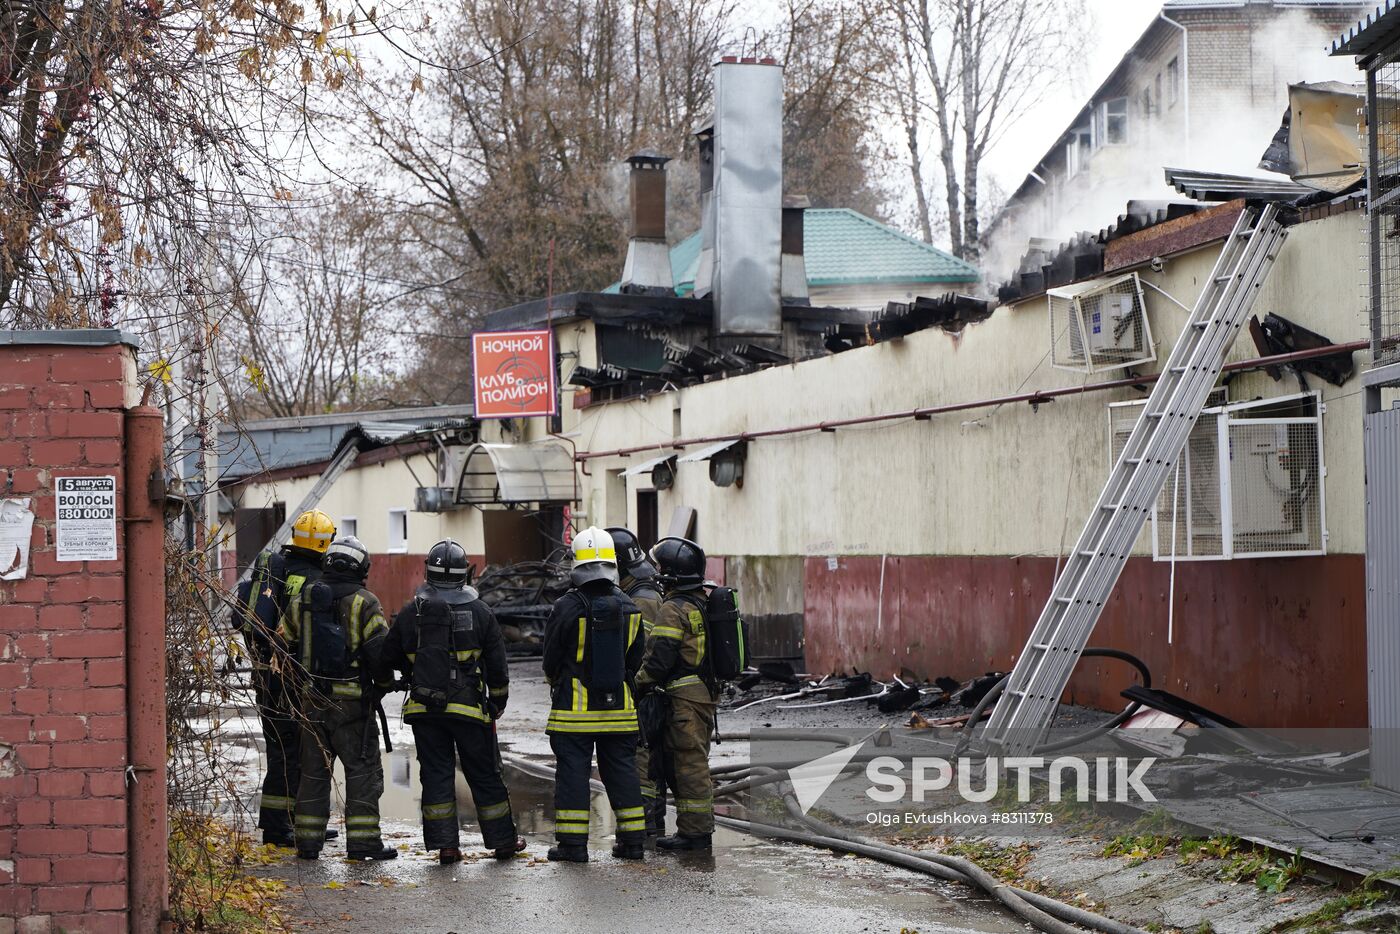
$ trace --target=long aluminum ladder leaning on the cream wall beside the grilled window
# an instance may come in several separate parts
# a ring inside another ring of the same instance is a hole
[[[1287,237],[1277,204],[1240,213],[993,710],[983,734],[990,755],[1026,756],[1044,737]]]

